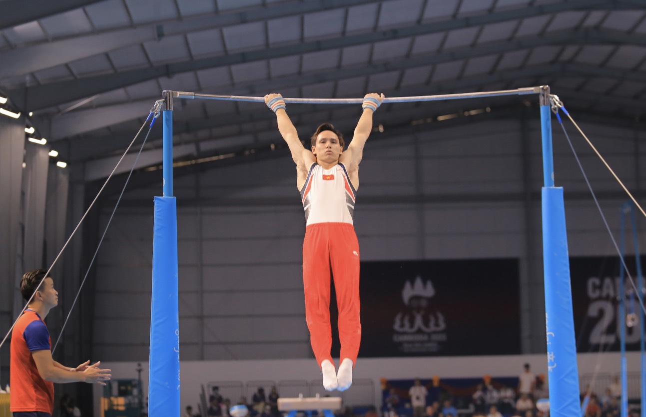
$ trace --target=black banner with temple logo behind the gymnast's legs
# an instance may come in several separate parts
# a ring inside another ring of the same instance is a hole
[[[359,356],[519,354],[518,280],[517,259],[361,262]]]

